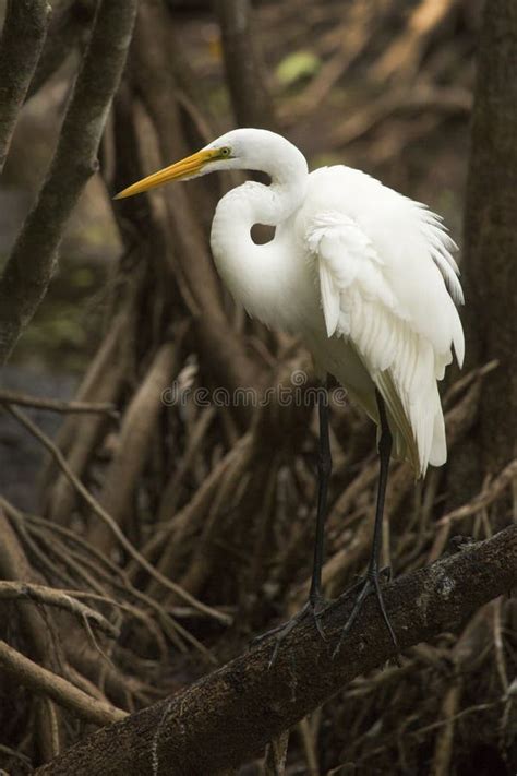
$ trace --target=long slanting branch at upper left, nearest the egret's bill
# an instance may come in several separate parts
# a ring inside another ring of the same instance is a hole
[[[47,179],[0,282],[0,363],[45,296],[65,224],[97,169],[97,150],[125,62],[135,11],[136,0],[105,0],[98,7]]]

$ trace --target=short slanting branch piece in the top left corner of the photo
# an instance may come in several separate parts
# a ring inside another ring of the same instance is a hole
[[[0,41],[0,171],[45,43],[49,11],[47,0],[8,2]]]

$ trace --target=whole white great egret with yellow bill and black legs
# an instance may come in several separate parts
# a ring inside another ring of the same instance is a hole
[[[436,381],[453,359],[461,366],[462,303],[456,249],[425,205],[342,165],[309,174],[301,152],[266,130],[238,129],[192,156],[124,189],[131,196],[172,180],[216,170],[260,170],[270,186],[247,181],[218,203],[211,244],[233,297],[268,326],[300,334],[321,374],[333,374],[377,425],[380,477],[368,571],[345,625],[365,597],[377,601],[395,647],[380,586],[382,518],[392,442],[417,477],[447,456]],[[276,227],[255,244],[254,224]],[[326,396],[326,394],[325,394]],[[320,488],[310,597],[280,636],[311,611],[318,630],[323,537],[332,459],[327,401],[318,402]],[[341,638],[342,638],[341,635]],[[341,642],[339,641],[339,644]],[[336,650],[339,648],[339,644]]]

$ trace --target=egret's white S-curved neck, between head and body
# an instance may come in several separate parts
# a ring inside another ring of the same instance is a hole
[[[270,242],[257,246],[251,238],[254,224],[278,226],[291,216],[305,199],[308,166],[304,156],[290,144],[275,169],[261,171],[272,177],[270,186],[247,181],[229,191],[218,203],[212,223],[211,244],[219,274],[236,299],[260,320],[280,293],[286,278],[285,252],[278,251],[278,234]],[[262,305],[264,301],[264,306]]]

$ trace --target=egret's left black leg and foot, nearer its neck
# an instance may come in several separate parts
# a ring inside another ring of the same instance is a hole
[[[309,600],[305,606],[297,612],[289,622],[279,625],[267,633],[264,633],[254,642],[262,642],[266,636],[276,633],[276,643],[273,650],[273,656],[269,661],[272,666],[278,654],[281,642],[289,635],[296,625],[308,614],[312,614],[314,624],[321,637],[325,641],[325,634],[321,624],[321,616],[325,609],[325,599],[322,594],[322,568],[324,554],[324,538],[325,538],[325,518],[327,512],[327,492],[328,481],[332,473],[332,454],[330,439],[328,434],[328,389],[327,382],[324,387],[317,392],[317,411],[320,417],[320,451],[317,456],[317,511],[316,511],[316,536],[314,540],[314,562],[312,566],[311,588]]]

